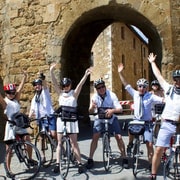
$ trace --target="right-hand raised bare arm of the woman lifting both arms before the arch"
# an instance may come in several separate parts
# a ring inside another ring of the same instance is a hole
[[[80,80],[79,84],[76,86],[76,89],[74,90],[74,97],[77,99],[83,84],[85,83],[87,77],[91,74],[91,68],[86,69],[84,76],[82,77],[82,79]]]

